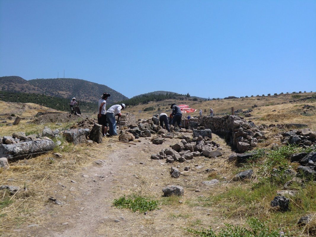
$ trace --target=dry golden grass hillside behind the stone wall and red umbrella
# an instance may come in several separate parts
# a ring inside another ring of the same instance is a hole
[[[260,97],[248,97],[232,100],[165,100],[155,101],[148,104],[141,104],[137,106],[128,106],[125,111],[131,112],[136,115],[136,118],[151,118],[154,114],[159,112],[171,113],[170,105],[176,103],[177,105],[185,104],[190,108],[197,109],[194,113],[183,114],[183,116],[198,116],[198,112],[202,109],[203,115],[208,115],[210,108],[214,110],[215,114],[219,113],[231,113],[231,107],[234,110],[242,109],[244,111],[252,109],[250,114],[252,115],[248,120],[252,120],[257,125],[261,124],[286,124],[286,123],[304,123],[310,126],[312,129],[316,129],[316,109],[306,110],[304,105],[316,107],[316,100],[312,101],[297,101],[289,103],[291,100],[298,100],[300,98],[292,98],[293,94],[283,94],[277,96],[260,96]],[[315,93],[303,93],[299,94],[301,98],[315,96]],[[283,102],[287,102],[282,104]],[[257,105],[258,107],[252,108]],[[143,112],[145,108],[154,107],[155,110]],[[160,108],[160,110],[158,110]],[[142,113],[138,115],[138,110],[142,110]],[[206,111],[206,112],[205,112]],[[304,112],[307,112],[305,115]],[[240,114],[244,116],[244,114]],[[310,116],[308,116],[310,115]]]

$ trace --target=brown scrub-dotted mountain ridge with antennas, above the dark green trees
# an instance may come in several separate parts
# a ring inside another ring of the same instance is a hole
[[[2,91],[13,91],[23,93],[37,93],[48,96],[71,98],[96,102],[100,99],[103,92],[111,94],[108,103],[128,99],[123,94],[94,82],[74,78],[55,78],[55,79],[33,79],[25,80],[20,76],[0,77],[0,89]]]

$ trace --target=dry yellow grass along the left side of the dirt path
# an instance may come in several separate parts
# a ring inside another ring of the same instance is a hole
[[[105,138],[108,140],[108,138]],[[10,164],[9,170],[0,169],[0,186],[13,185],[24,187],[26,190],[9,195],[8,191],[1,190],[1,201],[11,203],[0,210],[0,235],[24,222],[41,224],[49,216],[38,215],[48,202],[48,197],[55,196],[53,192],[56,183],[70,179],[82,169],[91,166],[100,156],[107,155],[111,147],[74,146],[64,143],[67,152],[56,149],[63,157],[58,158],[49,152],[39,157],[20,160]],[[53,157],[54,161],[50,159]],[[11,181],[10,181],[11,180]],[[69,196],[67,191],[59,191],[59,195]]]

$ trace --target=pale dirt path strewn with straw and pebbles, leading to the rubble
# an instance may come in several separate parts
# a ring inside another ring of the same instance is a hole
[[[104,160],[103,164],[83,169],[74,177],[74,182],[60,181],[59,188],[69,190],[68,196],[60,197],[63,206],[49,203],[39,214],[39,217],[43,216],[41,225],[32,226],[30,223],[26,228],[15,229],[15,235],[12,236],[185,236],[187,233],[181,229],[183,226],[194,226],[194,222],[210,225],[215,217],[206,213],[212,210],[196,206],[193,200],[207,195],[214,188],[222,188],[222,185],[201,185],[201,181],[208,177],[202,170],[214,167],[216,160],[221,165],[223,158],[230,153],[221,138],[215,135],[213,140],[222,145],[222,158],[199,157],[173,164],[165,163],[164,160],[151,160],[150,155],[179,142],[179,139],[167,139],[161,145],[154,145],[145,138],[140,138],[141,142],[137,145],[130,146],[113,142],[112,153],[98,157]],[[100,149],[104,144],[96,146]],[[170,167],[177,165],[180,170],[187,165],[195,169],[179,179],[172,179]],[[187,205],[180,205],[179,200],[171,200],[169,206],[161,206],[160,210],[151,211],[148,215],[112,207],[113,199],[131,193],[161,198],[161,189],[170,184],[185,188],[185,197],[181,200]],[[196,192],[196,189],[201,192]]]

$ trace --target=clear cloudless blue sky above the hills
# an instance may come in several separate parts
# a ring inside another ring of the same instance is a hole
[[[316,90],[316,1],[0,0],[0,76],[131,98]]]

